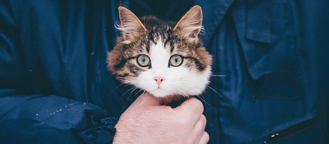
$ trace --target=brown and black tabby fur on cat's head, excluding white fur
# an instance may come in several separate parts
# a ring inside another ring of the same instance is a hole
[[[202,22],[201,8],[200,6],[194,6],[193,8],[182,17],[177,25],[174,22],[160,20],[155,16],[141,17],[137,20],[139,22],[136,22],[140,24],[138,31],[123,30],[121,32],[123,36],[117,38],[116,46],[108,53],[108,68],[117,77],[137,77],[140,72],[152,68],[152,60],[149,67],[140,67],[136,61],[137,56],[140,54],[149,55],[150,51],[152,51],[151,47],[161,37],[164,48],[171,55],[178,54],[184,57],[184,62],[181,66],[187,67],[191,71],[203,72],[205,68],[210,67],[212,56],[200,43],[198,37]],[[135,14],[130,12],[126,8],[119,7],[120,14],[128,13],[129,16],[135,16]],[[201,18],[199,17],[199,21],[197,21],[200,24],[200,29],[195,29],[194,32],[187,35],[186,33],[188,32],[182,28],[184,25],[180,25],[180,23],[182,23],[182,20],[187,19],[186,16],[189,12],[200,12]],[[123,23],[125,19],[120,17],[120,20]],[[168,67],[170,66],[168,65]]]

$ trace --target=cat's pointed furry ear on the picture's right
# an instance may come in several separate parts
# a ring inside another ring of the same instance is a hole
[[[199,5],[193,6],[176,24],[174,30],[178,31],[188,40],[197,42],[202,29],[202,10]]]

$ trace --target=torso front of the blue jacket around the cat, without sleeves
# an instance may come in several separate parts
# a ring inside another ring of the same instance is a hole
[[[205,29],[213,30],[208,37],[201,35],[214,59],[214,76],[202,95],[209,103],[204,114],[210,143],[263,143],[325,108],[326,98],[308,96],[314,91],[308,90],[305,80],[310,78],[296,52],[298,24],[292,22],[294,6],[288,1],[270,5],[270,11],[262,3],[254,9],[237,1],[201,3],[209,14],[204,16]],[[122,113],[139,90],[120,85],[107,69],[106,52],[119,34],[114,28],[118,2],[26,2],[18,26],[19,51],[26,62],[20,91],[55,94],[98,105],[113,115]],[[122,3],[137,16],[154,14],[171,21],[196,4]]]

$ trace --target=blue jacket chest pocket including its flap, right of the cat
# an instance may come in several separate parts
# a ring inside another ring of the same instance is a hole
[[[257,83],[255,98],[302,95],[292,9],[289,0],[247,0],[232,10],[248,71]]]

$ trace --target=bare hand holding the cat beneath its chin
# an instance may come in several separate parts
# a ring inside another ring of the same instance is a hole
[[[190,98],[176,108],[162,105],[166,99],[141,94],[122,113],[115,125],[113,143],[189,143],[204,144],[206,117],[203,105]]]

